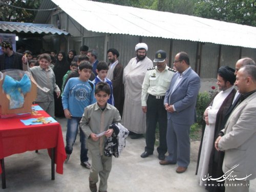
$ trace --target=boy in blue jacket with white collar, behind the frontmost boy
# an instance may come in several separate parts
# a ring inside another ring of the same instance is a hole
[[[93,80],[94,85],[98,82],[106,82],[110,86],[110,98],[108,99],[108,103],[114,105],[114,97],[113,97],[113,87],[110,79],[106,78],[106,74],[108,74],[109,66],[105,61],[99,61],[96,68],[96,73],[98,74]]]

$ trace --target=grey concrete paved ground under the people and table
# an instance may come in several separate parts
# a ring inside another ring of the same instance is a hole
[[[61,123],[65,140],[66,119],[57,120]],[[38,154],[26,152],[5,158],[7,188],[0,190],[5,192],[90,191],[89,170],[80,165],[79,144],[76,141],[69,162],[64,164],[64,174],[55,174],[54,181],[51,180],[51,160],[47,150],[39,150]],[[113,157],[108,191],[206,191],[198,185],[195,176],[199,142],[191,142],[191,163],[183,174],[175,172],[177,165],[160,165],[156,150],[154,155],[142,159],[140,154],[144,151],[144,146],[144,138],[126,139],[126,147],[121,156]],[[256,180],[254,179],[250,184],[250,191],[255,192]]]

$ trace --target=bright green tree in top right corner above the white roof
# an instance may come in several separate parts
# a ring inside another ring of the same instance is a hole
[[[195,15],[225,22],[256,26],[255,0],[199,0]]]

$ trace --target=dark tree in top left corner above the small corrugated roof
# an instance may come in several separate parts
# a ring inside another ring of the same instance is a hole
[[[41,0],[0,0],[0,20],[5,22],[32,23]]]

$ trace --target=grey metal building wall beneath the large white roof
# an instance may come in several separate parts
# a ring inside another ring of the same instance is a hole
[[[105,61],[108,61],[106,50],[115,48],[119,51],[119,61],[123,66],[126,66],[130,59],[136,56],[135,45],[140,40],[147,44],[147,57],[152,60],[154,59],[157,50],[165,50],[167,52],[168,65],[171,67],[173,67],[173,60],[178,52],[187,52],[190,58],[191,68],[194,70],[197,69],[198,73],[200,69],[199,74],[201,78],[216,79],[219,59],[220,66],[230,66],[232,68],[234,68],[236,61],[240,58],[240,54],[242,57],[251,57],[256,60],[256,49],[222,45],[221,56],[219,58],[220,46],[217,44],[92,32],[83,28],[65,12],[56,12],[53,14],[51,21],[56,27],[57,18],[59,18],[61,22],[61,29],[68,31],[71,34],[71,37],[66,39],[67,44],[60,42],[59,47],[63,48],[63,46],[66,46],[67,52],[70,49],[75,49],[77,54],[79,54],[79,47],[81,45],[87,45],[89,49],[96,49],[98,51],[98,60]],[[61,41],[62,40],[65,39],[62,38]],[[198,47],[201,48],[201,50],[198,49]]]

